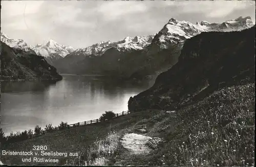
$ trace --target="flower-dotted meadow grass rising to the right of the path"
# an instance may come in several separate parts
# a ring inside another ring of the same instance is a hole
[[[254,84],[232,86],[177,112],[150,165],[253,166]],[[168,131],[169,130],[169,131]],[[153,155],[154,154],[154,155]]]

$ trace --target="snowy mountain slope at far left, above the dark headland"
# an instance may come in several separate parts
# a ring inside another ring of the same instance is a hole
[[[31,50],[30,46],[22,39],[11,39],[5,33],[1,32],[1,41],[5,42],[10,47],[14,47],[15,49],[20,49],[30,54],[35,54],[35,52]]]

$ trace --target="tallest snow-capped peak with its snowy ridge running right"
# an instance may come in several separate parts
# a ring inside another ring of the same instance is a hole
[[[169,19],[168,23],[155,36],[151,45],[160,45],[160,49],[167,49],[169,45],[174,45],[191,38],[201,32],[208,31],[240,31],[254,25],[251,17],[238,17],[222,23],[209,23],[208,21],[197,22],[196,25],[188,21],[179,21],[175,18]]]

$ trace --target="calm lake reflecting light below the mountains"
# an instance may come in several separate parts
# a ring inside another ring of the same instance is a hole
[[[10,132],[95,120],[104,111],[127,111],[130,97],[152,83],[120,83],[102,76],[65,75],[58,82],[2,82],[1,127]]]

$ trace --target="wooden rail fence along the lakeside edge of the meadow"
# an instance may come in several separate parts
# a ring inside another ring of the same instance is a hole
[[[120,112],[120,113],[116,113],[116,116],[114,118],[129,114],[129,113],[130,113],[130,111],[123,111],[123,112]],[[69,125],[67,125],[67,127],[61,127],[61,129],[59,129],[59,127],[57,127],[57,128],[52,129],[51,131],[42,130],[41,134],[32,135],[32,137],[40,136],[42,134],[46,134],[46,133],[50,133],[50,132],[54,132],[54,131],[58,131],[58,130],[64,130],[64,129],[75,128],[75,127],[79,127],[79,126],[91,125],[91,124],[95,124],[95,123],[100,123],[100,120],[96,119],[96,120],[79,122],[79,123],[75,123],[75,124],[69,124]]]

